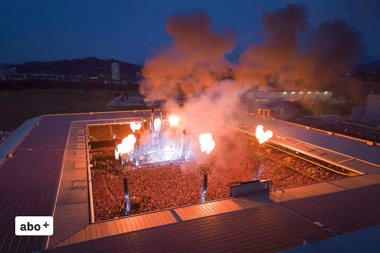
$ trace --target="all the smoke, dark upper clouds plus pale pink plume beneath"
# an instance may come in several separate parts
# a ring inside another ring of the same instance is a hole
[[[264,13],[264,43],[251,46],[236,64],[225,59],[236,44],[235,32],[212,27],[204,11],[171,16],[165,28],[173,43],[146,60],[140,91],[147,101],[166,100],[165,109],[177,108],[174,101],[184,95],[187,100],[182,110],[176,111],[180,119],[177,128],[186,129],[192,141],[212,133],[213,155],[225,154],[222,136],[232,140],[233,135],[224,124],[231,120],[236,100],[251,86],[266,85],[276,78],[300,82],[304,87],[318,83],[320,77],[332,76],[323,66],[347,65],[362,48],[360,35],[342,21],[322,24],[312,31],[301,5]],[[300,35],[308,35],[304,51],[300,50]],[[348,39],[353,42],[346,43]],[[331,46],[326,45],[329,41],[333,41]],[[235,81],[220,81],[231,75]]]

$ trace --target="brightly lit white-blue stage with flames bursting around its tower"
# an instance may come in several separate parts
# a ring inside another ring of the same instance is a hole
[[[191,142],[184,125],[177,116],[166,120],[159,114],[146,119],[145,131],[141,131],[142,122],[131,123],[133,134],[129,134],[115,149],[115,158],[122,164],[132,162],[136,168],[157,166],[169,163],[189,161],[194,155],[195,142]],[[194,147],[192,147],[194,145]]]

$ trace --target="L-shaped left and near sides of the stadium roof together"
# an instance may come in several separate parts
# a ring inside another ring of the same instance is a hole
[[[379,175],[93,223],[85,126],[149,115],[44,115],[17,128],[0,144],[0,252],[280,251],[301,245],[305,237],[334,236],[315,221],[340,234],[380,225]],[[15,236],[14,217],[22,215],[54,216],[53,236]]]

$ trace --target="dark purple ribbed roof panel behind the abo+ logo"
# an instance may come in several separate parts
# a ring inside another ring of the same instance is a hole
[[[43,236],[15,236],[16,216],[49,216],[63,150],[16,150],[0,164],[0,252],[41,250]]]

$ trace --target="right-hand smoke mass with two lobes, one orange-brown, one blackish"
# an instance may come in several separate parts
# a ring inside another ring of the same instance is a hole
[[[241,55],[235,68],[238,81],[265,84],[268,79],[282,78],[303,87],[330,82],[364,51],[361,34],[345,21],[325,22],[310,31],[301,5],[264,13],[263,24],[264,43]],[[301,51],[298,37],[305,33],[306,50]]]

